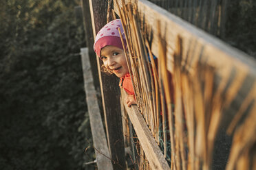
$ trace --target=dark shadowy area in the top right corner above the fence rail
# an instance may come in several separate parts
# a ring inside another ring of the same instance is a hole
[[[228,0],[223,40],[256,59],[256,1]]]

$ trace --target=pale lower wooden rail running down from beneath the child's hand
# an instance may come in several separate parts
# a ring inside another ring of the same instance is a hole
[[[153,138],[147,123],[143,119],[142,114],[140,114],[138,106],[132,105],[131,108],[129,108],[124,100],[127,94],[125,93],[125,90],[121,89],[121,91],[123,104],[125,105],[131,123],[134,125],[134,130],[138,136],[140,145],[149,160],[151,169],[170,169],[167,160],[164,159],[164,155],[158,147],[156,140]]]

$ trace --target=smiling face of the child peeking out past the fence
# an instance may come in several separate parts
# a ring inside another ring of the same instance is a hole
[[[125,51],[122,49],[108,45],[101,49],[100,58],[103,60],[104,66],[117,77],[123,77],[129,73]]]

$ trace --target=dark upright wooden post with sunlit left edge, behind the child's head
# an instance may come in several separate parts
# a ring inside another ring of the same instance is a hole
[[[89,0],[92,16],[94,37],[96,33],[107,23],[107,1]],[[120,89],[118,78],[115,75],[100,73],[101,61],[97,58],[100,89],[103,99],[103,111],[105,116],[107,139],[114,169],[126,169],[125,145],[122,135],[122,117],[120,110]]]

